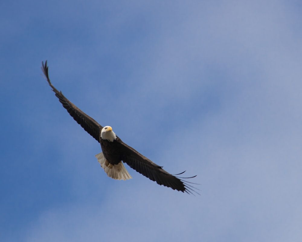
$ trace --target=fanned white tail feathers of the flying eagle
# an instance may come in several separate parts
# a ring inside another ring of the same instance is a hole
[[[101,167],[105,170],[107,175],[115,180],[128,180],[132,176],[128,173],[123,162],[118,163],[117,165],[110,164],[107,159],[104,157],[103,152],[95,155],[98,159],[98,163],[101,164]]]

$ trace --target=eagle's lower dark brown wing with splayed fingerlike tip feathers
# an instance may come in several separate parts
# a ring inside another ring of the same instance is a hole
[[[185,182],[180,178],[171,175],[169,172],[166,172],[164,169],[162,169],[162,166],[155,164],[154,162],[137,152],[135,149],[122,142],[119,138],[117,138],[116,141],[119,144],[118,146],[122,153],[122,160],[140,174],[148,177],[152,181],[156,181],[159,185],[170,187],[173,190],[187,192],[191,194],[192,192],[195,192],[198,194],[198,192],[194,190],[196,188],[188,184],[191,182]],[[187,178],[193,177],[195,176]]]

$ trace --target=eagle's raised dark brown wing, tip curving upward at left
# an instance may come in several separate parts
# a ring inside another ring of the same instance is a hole
[[[102,130],[102,126],[98,124],[92,117],[88,116],[82,110],[80,110],[77,106],[75,106],[72,102],[70,102],[62,92],[58,91],[53,84],[51,84],[49,76],[48,76],[48,66],[47,60],[45,61],[45,65],[42,61],[41,67],[45,77],[47,78],[48,84],[56,93],[56,97],[59,98],[59,101],[63,104],[63,107],[67,110],[70,116],[73,117],[76,122],[85,129],[88,134],[90,134],[93,138],[95,138],[98,142],[100,142],[100,132]]]

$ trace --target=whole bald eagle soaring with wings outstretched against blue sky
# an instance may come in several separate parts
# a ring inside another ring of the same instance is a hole
[[[177,175],[181,175],[184,172],[176,175],[171,175],[170,173],[166,172],[164,169],[162,169],[162,166],[155,164],[137,152],[135,149],[121,141],[121,139],[113,132],[110,126],[102,127],[94,119],[70,102],[62,94],[62,92],[58,91],[50,82],[47,61],[45,61],[45,65],[42,61],[41,69],[56,97],[59,99],[60,103],[63,104],[63,107],[67,110],[70,116],[72,116],[73,119],[76,120],[76,122],[81,125],[83,129],[85,129],[86,132],[88,132],[93,138],[96,139],[96,141],[101,144],[102,152],[95,156],[109,177],[117,180],[127,180],[132,178],[125,168],[123,164],[124,162],[150,180],[156,181],[159,185],[164,185],[172,188],[173,190],[187,192],[190,194],[192,194],[192,192],[197,193],[195,190],[196,188],[188,184],[191,182],[185,182],[180,179],[184,179],[184,177],[177,177]],[[193,177],[195,176],[186,178]]]

